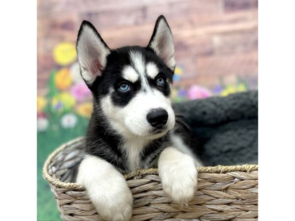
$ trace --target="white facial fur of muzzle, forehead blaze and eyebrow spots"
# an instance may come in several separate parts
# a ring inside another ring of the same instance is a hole
[[[140,137],[141,139],[159,138],[172,130],[175,125],[175,114],[171,107],[171,98],[166,97],[160,91],[149,86],[145,70],[147,69],[150,75],[155,75],[156,68],[152,63],[145,63],[144,55],[138,51],[131,51],[129,53],[132,65],[136,73],[140,76],[143,89],[132,98],[132,100],[125,107],[117,107],[112,103],[111,96],[107,95],[101,99],[101,107],[103,113],[106,115],[111,126],[118,131],[125,139],[134,139]],[[131,67],[127,70],[124,76],[128,78],[134,73]],[[133,72],[132,74],[130,74]],[[129,76],[127,76],[129,75]],[[171,85],[170,85],[171,86]],[[168,120],[166,123],[167,130],[157,135],[149,135],[153,127],[148,123],[147,114],[151,109],[162,108],[168,112]]]

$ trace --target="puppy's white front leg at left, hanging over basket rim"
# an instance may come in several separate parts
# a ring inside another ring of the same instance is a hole
[[[79,167],[77,182],[85,186],[103,220],[130,220],[132,193],[123,175],[113,165],[98,157],[87,156]]]

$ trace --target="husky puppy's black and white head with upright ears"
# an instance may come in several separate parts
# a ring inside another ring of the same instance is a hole
[[[78,34],[77,54],[81,75],[94,97],[93,115],[103,115],[125,138],[159,138],[174,127],[174,45],[163,16],[157,19],[146,48],[115,50],[84,21]]]

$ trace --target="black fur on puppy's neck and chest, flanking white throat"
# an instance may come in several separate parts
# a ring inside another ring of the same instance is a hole
[[[102,158],[116,166],[121,172],[130,172],[128,167],[128,159],[124,152],[118,148],[122,138],[112,131],[108,125],[106,118],[102,115],[100,108],[94,110],[90,122],[86,138],[86,154]],[[169,134],[161,138],[154,139],[149,143],[140,154],[142,167],[149,167],[158,157],[160,152],[167,146],[171,145]]]

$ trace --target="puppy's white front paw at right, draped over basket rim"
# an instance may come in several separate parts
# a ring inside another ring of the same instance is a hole
[[[175,147],[167,147],[158,160],[164,192],[176,203],[187,204],[197,189],[198,171],[195,160]]]

